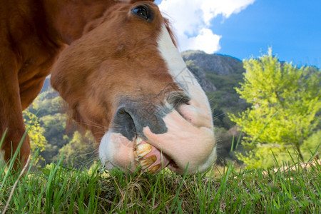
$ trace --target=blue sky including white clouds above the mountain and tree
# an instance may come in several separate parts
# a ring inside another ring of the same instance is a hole
[[[243,59],[260,56],[272,46],[280,61],[321,67],[321,0],[157,0],[156,4],[173,22],[180,51],[203,49]],[[200,41],[212,43],[212,49]]]

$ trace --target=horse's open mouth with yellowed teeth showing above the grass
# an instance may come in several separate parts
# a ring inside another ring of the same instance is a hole
[[[134,160],[136,167],[151,173],[158,173],[163,168],[178,168],[175,161],[160,149],[144,141],[140,136],[134,140]]]

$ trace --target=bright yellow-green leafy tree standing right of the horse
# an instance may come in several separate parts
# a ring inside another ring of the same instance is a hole
[[[254,158],[260,148],[293,148],[303,159],[300,146],[320,126],[320,70],[280,63],[271,49],[243,63],[244,83],[235,89],[251,107],[229,116],[247,134],[243,145],[255,148],[249,155]],[[256,158],[263,160],[265,155]],[[244,161],[245,156],[240,158]]]

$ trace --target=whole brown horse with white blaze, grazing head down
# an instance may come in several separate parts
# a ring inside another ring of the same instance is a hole
[[[0,1],[6,161],[25,132],[21,111],[51,73],[71,117],[99,142],[106,168],[210,168],[216,145],[208,99],[153,1]],[[29,153],[26,138],[22,164]]]

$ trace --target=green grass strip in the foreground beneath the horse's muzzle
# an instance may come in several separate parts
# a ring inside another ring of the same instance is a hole
[[[65,168],[62,158],[19,178],[6,213],[320,213],[321,166],[157,175]],[[287,165],[290,166],[290,165]],[[0,210],[18,173],[0,170]]]

